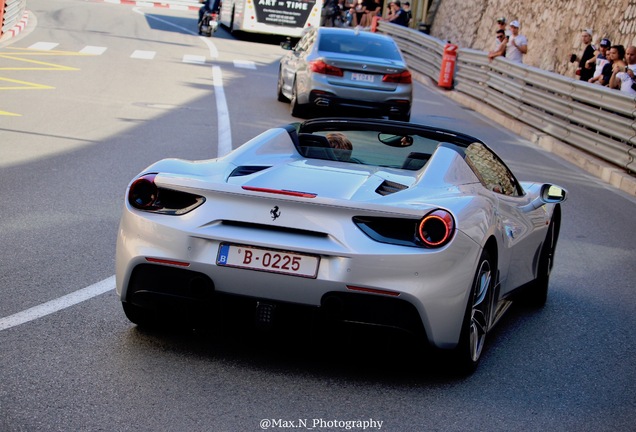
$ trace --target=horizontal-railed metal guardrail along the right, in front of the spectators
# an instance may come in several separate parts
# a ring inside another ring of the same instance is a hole
[[[414,72],[439,78],[445,42],[416,30],[380,22]],[[543,133],[636,174],[636,98],[460,48],[454,89]]]

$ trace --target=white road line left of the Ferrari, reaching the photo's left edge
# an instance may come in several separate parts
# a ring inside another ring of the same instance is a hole
[[[0,318],[0,331],[42,318],[43,316],[66,309],[113,289],[115,289],[115,276],[111,276],[108,279],[104,279],[103,281],[97,282],[89,287],[56,298],[55,300],[42,303],[41,305],[9,315],[5,318]]]

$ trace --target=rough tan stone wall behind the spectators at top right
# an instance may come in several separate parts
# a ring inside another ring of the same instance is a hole
[[[581,30],[594,30],[593,43],[636,45],[636,0],[441,0],[431,35],[460,47],[490,51],[497,17],[521,22],[528,38],[524,63],[574,76],[570,55],[582,52]]]

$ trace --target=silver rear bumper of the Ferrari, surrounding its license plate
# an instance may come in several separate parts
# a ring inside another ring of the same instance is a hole
[[[116,254],[122,302],[208,310],[222,296],[239,296],[318,308],[342,321],[410,331],[424,328],[429,342],[440,348],[458,342],[479,257],[478,245],[461,232],[442,250],[427,252],[377,244],[357,232],[355,238],[343,240],[346,244],[332,243],[329,237],[286,237],[266,231],[257,241],[253,230],[237,227],[217,227],[211,236],[204,228],[185,231],[161,222],[172,223],[171,218],[152,220],[128,207],[124,210]],[[223,241],[311,250],[320,256],[318,273],[315,278],[295,277],[217,265]],[[418,320],[412,320],[413,313]]]

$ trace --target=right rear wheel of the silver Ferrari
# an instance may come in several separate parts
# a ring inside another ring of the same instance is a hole
[[[459,344],[452,352],[455,371],[473,373],[479,365],[490,327],[496,269],[487,250],[481,253],[466,305]]]

